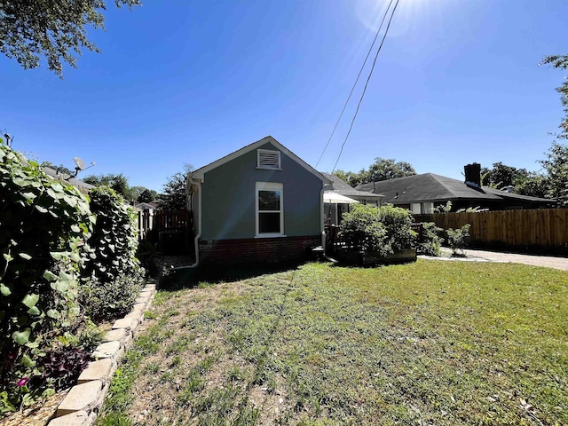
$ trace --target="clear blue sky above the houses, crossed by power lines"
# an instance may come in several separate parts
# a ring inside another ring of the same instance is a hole
[[[40,162],[72,169],[79,156],[96,162],[83,177],[123,173],[157,191],[185,163],[267,135],[315,166],[388,4],[108,3],[106,32],[90,30],[103,53],[84,51],[64,80],[0,58],[0,130]],[[565,16],[564,0],[400,0],[337,168],[383,157],[460,179],[469,162],[540,170],[568,73],[539,62],[568,53]],[[320,171],[334,167],[364,80]]]

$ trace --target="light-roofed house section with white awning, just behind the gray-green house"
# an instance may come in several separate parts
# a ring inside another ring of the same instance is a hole
[[[344,197],[348,197],[351,200],[359,201],[362,204],[368,204],[372,206],[380,206],[383,194],[380,193],[368,193],[365,191],[359,191],[358,189],[352,188],[347,182],[344,182],[339,177],[331,175],[329,173],[321,173],[324,177],[327,177],[331,181],[331,187],[326,187],[324,193],[324,220],[326,224],[339,225],[341,223],[341,217],[344,212],[350,210],[349,202],[328,202],[332,201],[326,198],[327,193],[338,193]]]

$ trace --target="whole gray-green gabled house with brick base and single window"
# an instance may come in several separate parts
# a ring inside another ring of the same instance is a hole
[[[328,184],[270,136],[193,171],[196,264],[303,260],[322,244]]]

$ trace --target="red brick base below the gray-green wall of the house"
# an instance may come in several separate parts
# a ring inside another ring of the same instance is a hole
[[[303,262],[321,236],[199,241],[200,264]]]

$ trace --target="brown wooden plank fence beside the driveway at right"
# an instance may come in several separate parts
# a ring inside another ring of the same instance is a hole
[[[544,248],[568,253],[568,209],[527,209],[414,215],[441,228],[470,224],[469,241],[484,246]]]

